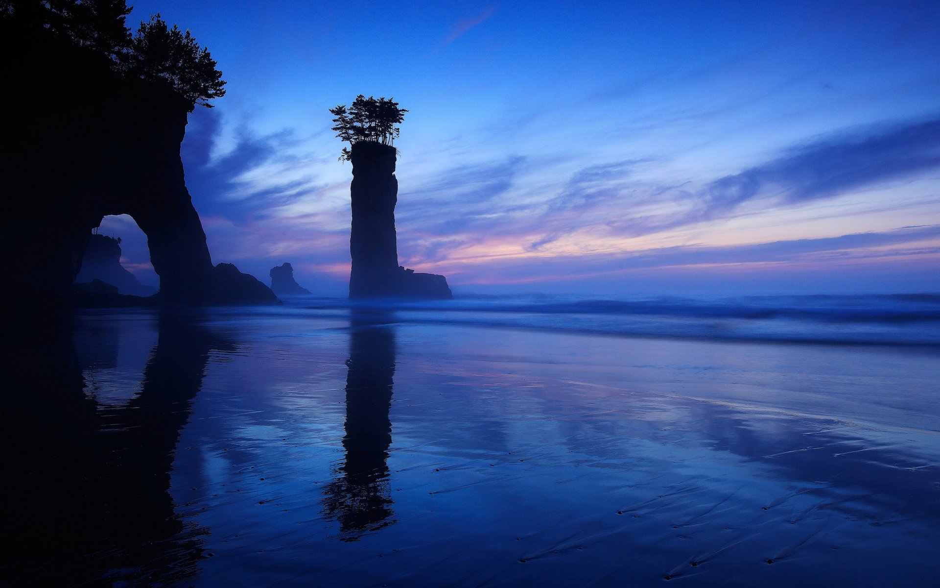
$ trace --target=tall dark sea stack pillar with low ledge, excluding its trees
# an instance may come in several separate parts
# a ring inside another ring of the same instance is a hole
[[[399,266],[395,157],[394,147],[376,141],[352,145],[350,298],[452,298],[444,276],[416,274]]]

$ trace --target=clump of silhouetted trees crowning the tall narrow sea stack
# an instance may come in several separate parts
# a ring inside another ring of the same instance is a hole
[[[330,114],[336,117],[331,130],[337,132],[339,139],[349,142],[351,147],[359,141],[392,145],[401,130],[395,125],[404,119],[406,112],[404,108],[399,108],[399,103],[394,99],[376,100],[373,96],[366,98],[359,94],[349,108],[346,104],[330,108]],[[348,160],[350,156],[351,151],[344,147],[339,159]]]

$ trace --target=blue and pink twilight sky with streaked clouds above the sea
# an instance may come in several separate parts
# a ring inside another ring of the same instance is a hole
[[[130,4],[130,3],[129,3]],[[349,279],[328,109],[409,112],[399,263],[455,295],[940,292],[936,2],[147,1],[227,80],[182,159],[213,262]],[[129,217],[122,261],[156,283]]]

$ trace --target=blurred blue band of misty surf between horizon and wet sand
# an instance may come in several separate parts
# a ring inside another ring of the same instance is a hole
[[[394,309],[399,321],[729,341],[940,345],[940,294],[596,298],[490,295],[453,301],[290,298],[317,312]]]

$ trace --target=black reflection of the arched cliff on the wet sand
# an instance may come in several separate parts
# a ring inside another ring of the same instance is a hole
[[[206,532],[174,512],[169,472],[217,342],[192,322],[161,318],[141,390],[119,407],[86,396],[67,334],[19,343],[5,358],[2,509],[14,547],[3,575],[50,586],[194,575]]]

